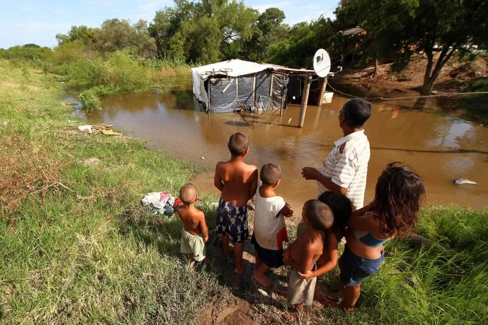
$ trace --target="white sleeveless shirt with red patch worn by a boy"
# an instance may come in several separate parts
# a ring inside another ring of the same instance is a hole
[[[263,183],[259,183],[256,191],[254,236],[262,248],[277,251],[283,248],[283,240],[288,240],[285,218],[281,214],[278,215],[285,206],[285,200],[281,196],[261,197],[259,194],[261,185]]]

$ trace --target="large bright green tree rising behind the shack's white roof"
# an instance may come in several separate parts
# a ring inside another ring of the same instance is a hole
[[[174,7],[156,12],[149,26],[160,56],[184,57],[188,62],[215,62],[229,43],[253,34],[257,12],[235,0],[176,0]]]

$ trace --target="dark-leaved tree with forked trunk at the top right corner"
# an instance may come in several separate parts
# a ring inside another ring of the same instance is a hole
[[[367,30],[363,45],[373,58],[396,52],[396,63],[408,63],[412,53],[424,52],[422,93],[430,94],[456,50],[470,39],[486,42],[486,12],[486,0],[343,0],[336,15],[343,27]]]

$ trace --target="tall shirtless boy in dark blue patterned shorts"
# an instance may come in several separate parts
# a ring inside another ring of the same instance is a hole
[[[249,153],[246,134],[232,134],[228,148],[230,159],[217,162],[215,167],[214,185],[222,192],[217,209],[217,235],[224,256],[229,253],[229,241],[234,245],[234,272],[242,273],[244,240],[249,235],[247,204],[258,187],[258,168],[244,162]]]

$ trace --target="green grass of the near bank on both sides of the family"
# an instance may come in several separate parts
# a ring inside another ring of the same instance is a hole
[[[272,308],[282,302],[231,296],[221,281],[231,261],[186,268],[179,220],[140,208],[142,195],[177,193],[199,167],[138,140],[79,134],[68,119],[83,120],[56,100],[57,77],[41,69],[0,60],[0,76],[0,322],[195,323],[206,305],[244,301],[257,323],[284,323]],[[101,163],[84,164],[91,157]],[[208,198],[201,208],[211,227]],[[426,208],[418,231],[430,245],[388,243],[354,315],[312,308],[303,323],[487,323],[487,217]],[[338,289],[337,275],[322,276],[321,287]]]

